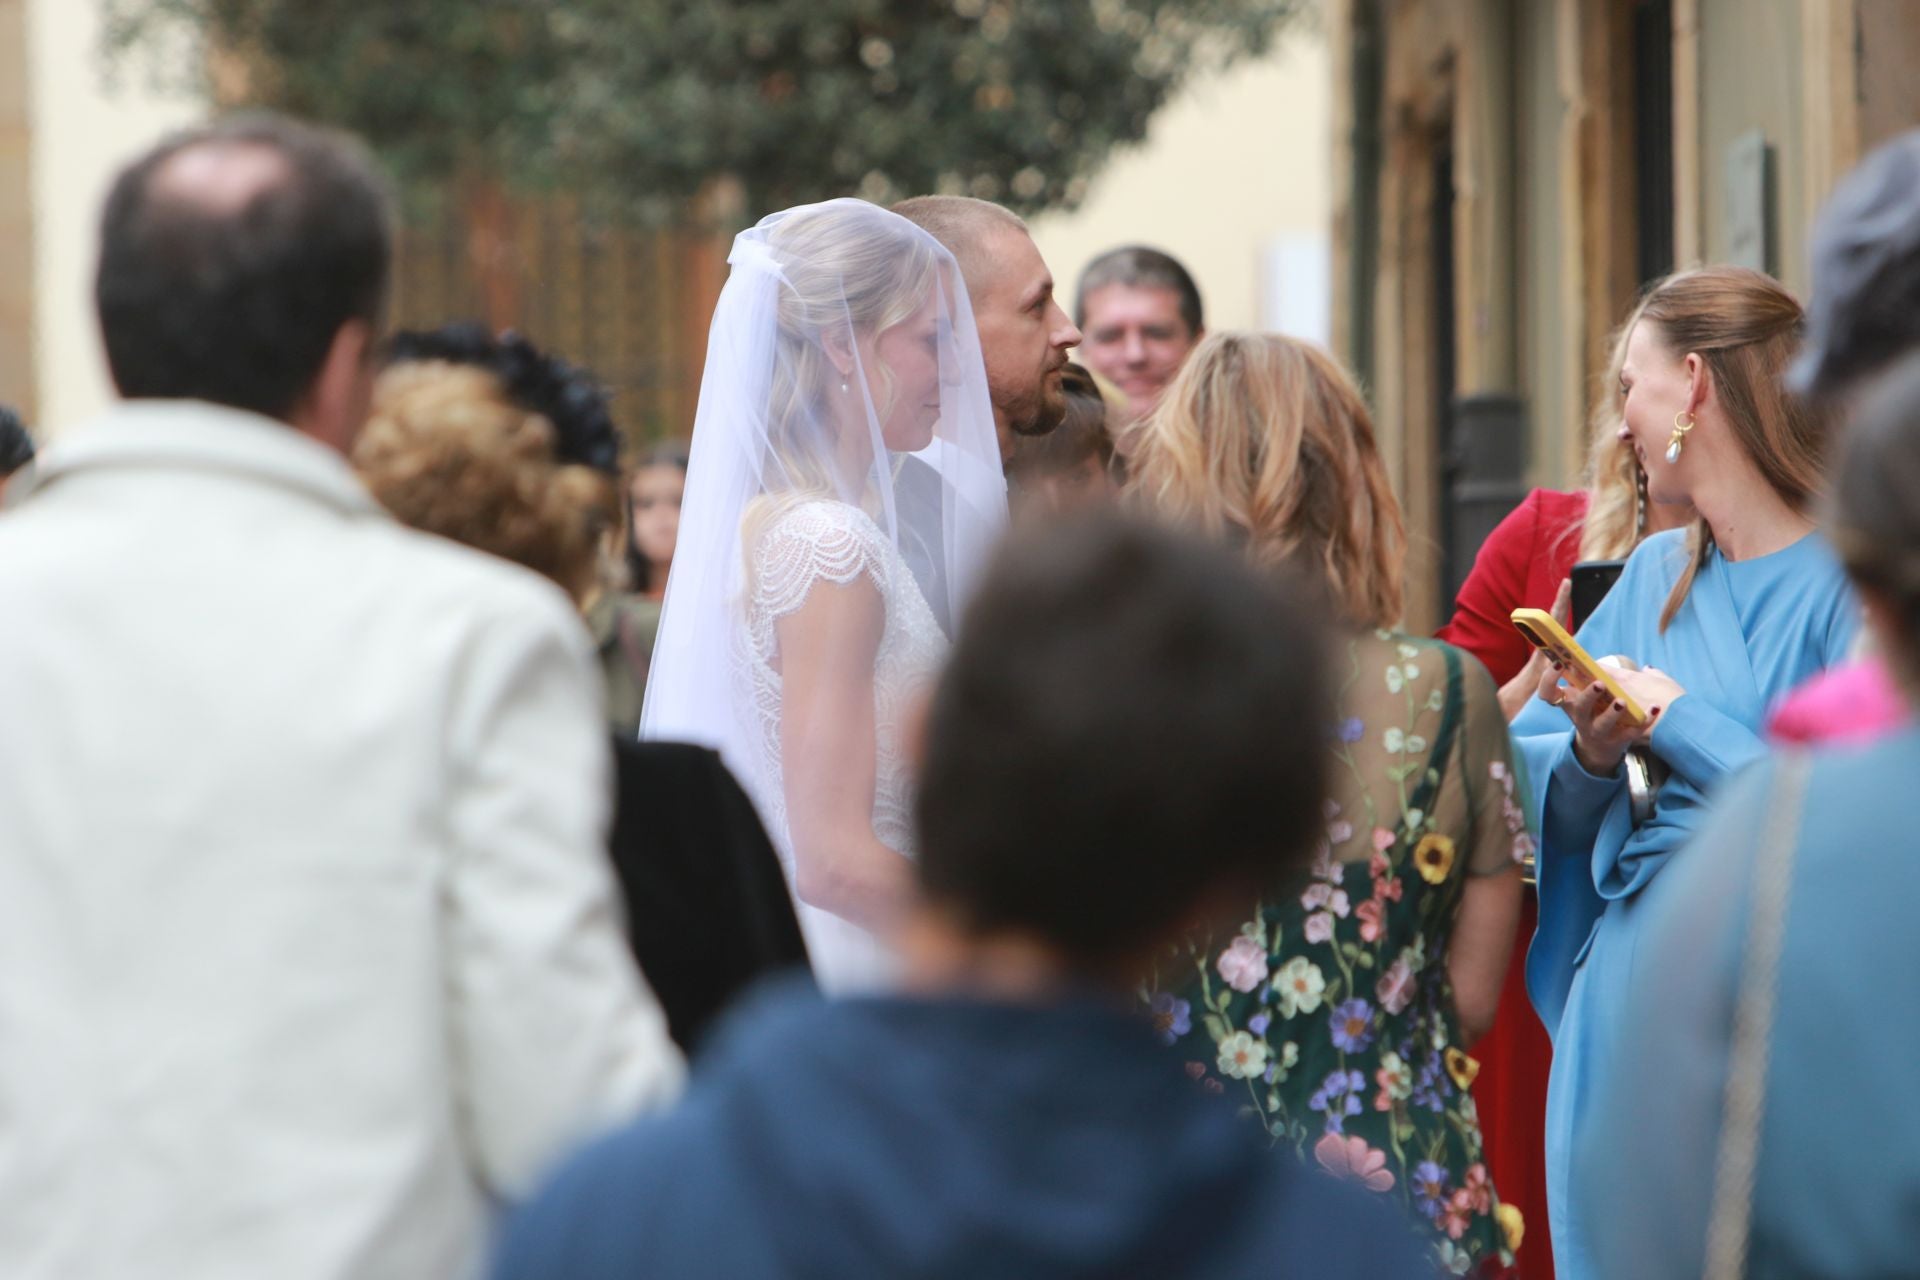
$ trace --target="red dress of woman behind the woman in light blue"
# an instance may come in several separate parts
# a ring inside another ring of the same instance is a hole
[[[1513,679],[1526,666],[1530,647],[1509,614],[1523,606],[1553,606],[1553,595],[1580,558],[1582,520],[1586,493],[1528,493],[1480,543],[1440,639],[1484,662],[1496,683]],[[1534,785],[1544,781],[1534,779]],[[1548,1065],[1553,1052],[1526,1000],[1526,944],[1534,936],[1534,919],[1536,904],[1528,892],[1521,904],[1519,944],[1500,992],[1500,1013],[1473,1050],[1480,1059],[1473,1098],[1500,1199],[1519,1205],[1526,1221],[1515,1274],[1553,1280],[1546,1173]]]

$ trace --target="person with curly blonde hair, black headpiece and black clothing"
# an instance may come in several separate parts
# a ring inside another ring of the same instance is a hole
[[[478,324],[397,334],[353,451],[403,522],[551,578],[589,612],[620,533],[618,434],[582,368]],[[637,712],[636,712],[637,714]],[[720,756],[614,735],[626,925],[674,1040],[693,1048],[756,979],[806,969],[780,862]]]

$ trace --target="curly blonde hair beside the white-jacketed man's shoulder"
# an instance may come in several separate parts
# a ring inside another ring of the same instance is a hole
[[[559,462],[553,424],[486,368],[392,365],[351,461],[401,524],[543,574],[580,606],[603,589],[616,480]]]

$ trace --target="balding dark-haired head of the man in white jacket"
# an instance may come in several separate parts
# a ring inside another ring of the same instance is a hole
[[[386,299],[388,200],[357,146],[278,117],[177,134],[115,180],[94,301],[129,399],[286,420]]]

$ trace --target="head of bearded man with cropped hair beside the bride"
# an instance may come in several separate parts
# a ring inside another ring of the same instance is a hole
[[[1060,426],[1068,411],[1060,374],[1081,332],[1054,301],[1054,274],[1010,209],[968,196],[914,196],[893,211],[960,263],[1004,462],[1014,436],[1044,436]]]

